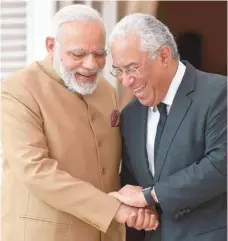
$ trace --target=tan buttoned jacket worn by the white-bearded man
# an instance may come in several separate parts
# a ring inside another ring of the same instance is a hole
[[[49,59],[2,84],[2,241],[120,241],[115,91],[60,84]]]

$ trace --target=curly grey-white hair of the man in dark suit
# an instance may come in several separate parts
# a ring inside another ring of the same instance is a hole
[[[173,35],[165,26],[155,17],[149,14],[135,13],[121,19],[113,29],[109,43],[115,39],[123,39],[129,33],[135,33],[140,37],[142,51],[150,51],[151,57],[156,57],[156,51],[163,45],[170,47],[172,57],[179,59],[177,44]]]

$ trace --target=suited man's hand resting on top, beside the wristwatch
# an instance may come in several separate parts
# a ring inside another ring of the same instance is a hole
[[[132,207],[146,207],[147,201],[142,193],[142,187],[126,185],[118,192],[109,193],[111,196],[118,199],[121,203]]]

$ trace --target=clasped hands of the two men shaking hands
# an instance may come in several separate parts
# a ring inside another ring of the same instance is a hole
[[[118,199],[121,205],[115,215],[119,223],[126,223],[128,227],[138,230],[156,230],[159,217],[154,206],[148,206],[143,195],[142,187],[126,185],[118,192],[109,193]]]

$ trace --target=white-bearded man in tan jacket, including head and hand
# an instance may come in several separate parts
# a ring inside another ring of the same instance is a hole
[[[48,55],[2,84],[2,241],[121,241],[156,229],[151,209],[121,204],[114,89],[99,76],[105,30],[95,10],[53,17]]]

